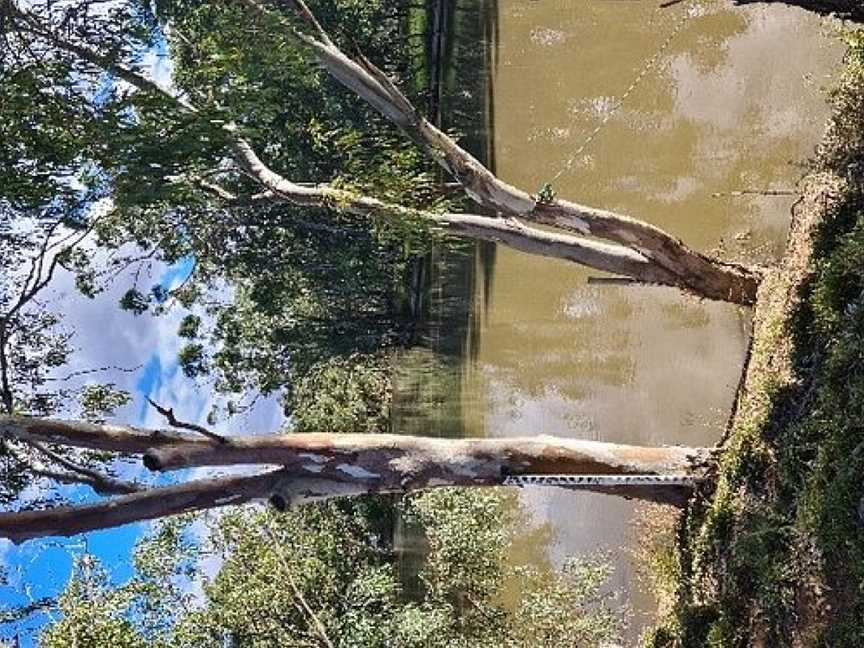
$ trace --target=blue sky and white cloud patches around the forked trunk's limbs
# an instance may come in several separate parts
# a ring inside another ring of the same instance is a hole
[[[150,280],[166,288],[182,282],[192,269],[191,259],[166,267],[158,266]],[[65,313],[65,320],[76,330],[77,352],[73,364],[64,371],[100,366],[138,366],[132,372],[109,371],[87,379],[115,382],[118,388],[132,394],[133,401],[116,413],[115,420],[147,427],[161,427],[164,420],[149,407],[147,397],[172,407],[178,417],[204,423],[214,396],[207,385],[197,385],[183,375],[177,364],[177,352],[182,340],[176,335],[177,326],[185,312],[175,305],[162,316],[133,315],[118,307],[120,296],[129,283],[121,277],[95,300],[87,299],[74,290],[70,276],[63,273],[56,278],[54,303]],[[274,398],[261,399],[250,412],[236,417],[229,424],[231,430],[268,432],[282,423],[281,408]],[[228,430],[225,430],[228,431]],[[129,465],[131,476],[150,478],[139,465]],[[180,477],[194,476],[180,475]],[[169,478],[161,478],[165,481]],[[33,496],[47,483],[36,483]],[[58,490],[50,484],[52,492]],[[65,498],[72,502],[92,499],[86,487],[60,487]],[[107,568],[114,583],[121,583],[132,574],[131,551],[135,542],[150,528],[150,523],[139,523],[99,531],[73,538],[34,540],[14,546],[0,540],[0,566],[7,575],[7,584],[0,586],[0,606],[22,605],[42,597],[56,596],[63,590],[76,556],[92,553]],[[50,621],[47,614],[35,614],[23,623],[0,625],[0,641],[19,635],[21,646],[36,645],[34,630]]]

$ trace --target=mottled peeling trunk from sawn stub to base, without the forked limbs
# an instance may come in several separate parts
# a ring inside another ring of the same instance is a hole
[[[298,474],[399,488],[498,484],[508,475],[698,474],[705,451],[579,439],[438,439],[395,434],[283,434],[230,437],[224,444],[176,444],[145,453],[151,470],[281,465]]]

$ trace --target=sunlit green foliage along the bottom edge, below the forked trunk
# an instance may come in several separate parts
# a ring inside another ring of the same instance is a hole
[[[391,536],[398,513],[388,500],[236,510],[211,523],[205,545],[192,541],[188,520],[163,523],[119,587],[94,578],[85,561],[89,571],[76,572],[62,619],[41,645],[516,648],[547,645],[544,638],[596,646],[620,632],[601,594],[603,560],[571,561],[560,575],[509,566],[513,538],[526,530],[512,498],[447,489],[404,507],[429,541],[417,595],[400,577]],[[208,558],[221,560],[212,579],[201,573]],[[505,604],[504,587],[517,576],[524,585]],[[203,592],[197,604],[195,590]]]

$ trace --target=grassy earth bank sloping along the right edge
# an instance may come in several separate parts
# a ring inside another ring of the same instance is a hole
[[[864,646],[864,33],[848,38],[655,648]]]

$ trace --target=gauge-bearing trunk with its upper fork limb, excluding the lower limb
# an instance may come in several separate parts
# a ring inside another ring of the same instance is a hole
[[[424,487],[433,480],[500,483],[509,475],[698,475],[705,448],[645,447],[550,436],[440,439],[396,434],[265,434],[224,437],[0,416],[21,441],[143,455],[151,470],[280,465],[309,477]]]

